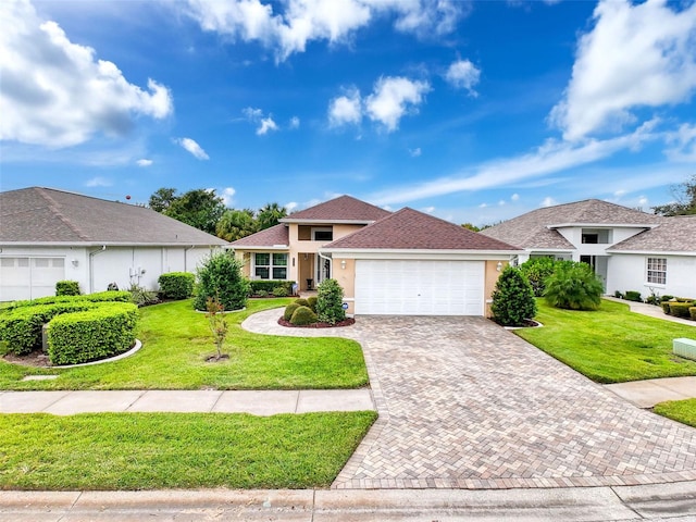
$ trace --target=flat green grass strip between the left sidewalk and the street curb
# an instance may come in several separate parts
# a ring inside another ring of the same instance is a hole
[[[0,489],[327,487],[371,411],[0,415]]]

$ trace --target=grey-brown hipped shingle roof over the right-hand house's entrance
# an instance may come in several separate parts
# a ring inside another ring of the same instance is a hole
[[[587,199],[533,210],[481,232],[489,237],[526,249],[574,249],[552,225],[645,225],[661,223],[664,217],[629,209],[616,203]]]

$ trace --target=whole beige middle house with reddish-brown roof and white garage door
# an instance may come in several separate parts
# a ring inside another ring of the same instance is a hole
[[[349,196],[288,215],[232,244],[251,278],[301,289],[326,277],[349,314],[484,315],[519,249],[412,209],[390,213]]]

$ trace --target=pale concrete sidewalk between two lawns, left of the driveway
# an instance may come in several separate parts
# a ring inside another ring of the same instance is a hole
[[[0,413],[308,413],[374,410],[370,388],[302,390],[0,391]]]

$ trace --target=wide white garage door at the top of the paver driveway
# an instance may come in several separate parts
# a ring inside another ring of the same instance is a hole
[[[483,315],[484,261],[356,262],[356,313]]]

